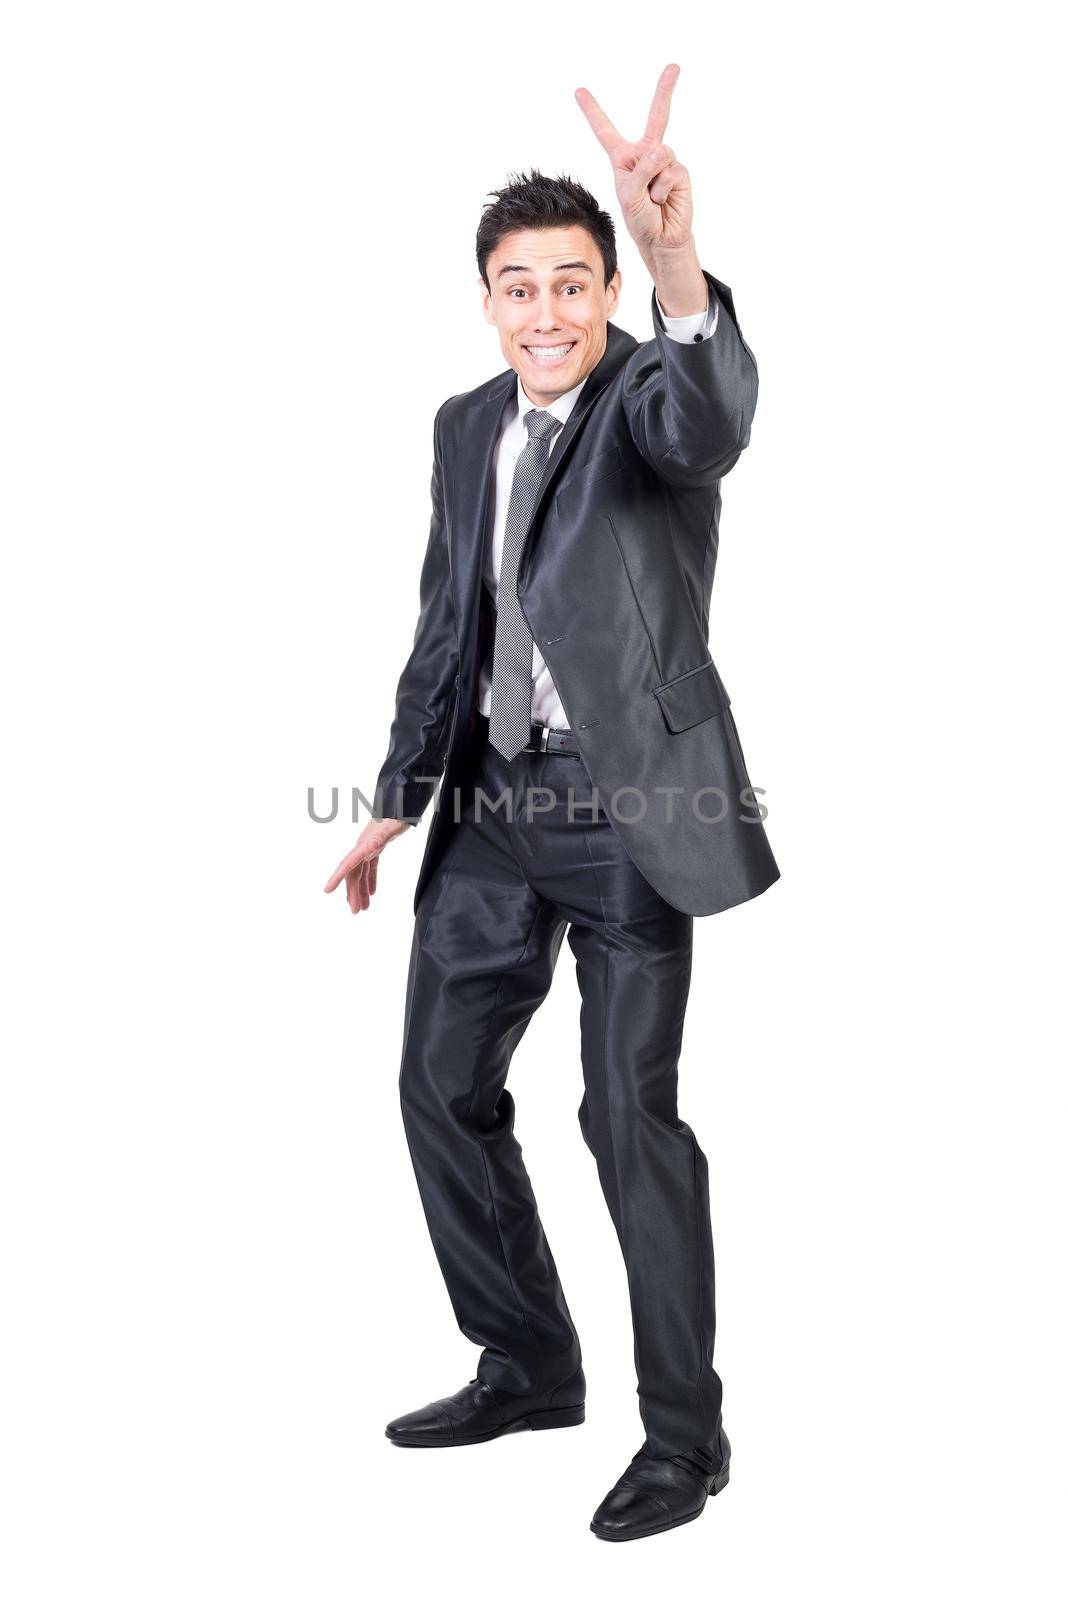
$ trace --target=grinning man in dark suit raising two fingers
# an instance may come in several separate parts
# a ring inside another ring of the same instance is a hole
[[[568,934],[579,1122],[627,1266],[646,1429],[593,1515],[606,1539],[689,1522],[729,1477],[708,1170],[676,1069],[694,915],[779,877],[708,654],[719,480],[748,443],[756,366],[662,144],[676,77],[635,144],[577,91],[654,282],[652,341],[609,322],[614,230],[585,189],[536,171],[483,213],[483,309],[508,368],[435,418],[420,614],[374,821],[326,885],[366,910],[382,850],[444,778],[400,1090],[438,1262],[483,1352],[464,1389],[389,1424],[397,1445],[584,1421],[579,1336],[505,1088]]]

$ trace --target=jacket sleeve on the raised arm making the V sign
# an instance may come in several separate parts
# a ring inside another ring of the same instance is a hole
[[[703,269],[702,269],[703,270]],[[656,290],[656,339],[640,344],[624,368],[624,413],[632,438],[662,478],[703,488],[729,472],[750,442],[756,410],[756,360],[726,283],[705,272],[719,301],[716,331],[694,344],[670,339]]]

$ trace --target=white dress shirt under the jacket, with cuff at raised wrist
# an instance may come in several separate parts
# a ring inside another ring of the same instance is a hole
[[[711,304],[705,304],[703,310],[694,312],[691,317],[668,317],[660,306],[660,298],[657,296],[657,306],[660,315],[664,317],[664,331],[668,339],[676,339],[679,344],[692,344],[695,338],[710,339],[716,331],[716,323],[719,322],[719,301],[716,294],[710,291]],[[582,379],[585,384],[585,378]],[[542,406],[542,411],[550,411],[561,424],[571,416],[576,400],[582,394],[582,384],[576,384],[568,394],[560,395],[550,405]],[[492,538],[486,539],[483,549],[483,582],[489,589],[489,594],[497,600],[497,584],[500,582],[500,560],[504,557],[504,531],[508,522],[508,502],[512,501],[512,478],[515,475],[515,464],[520,458],[520,451],[528,442],[526,426],[523,418],[528,411],[534,410],[534,402],[528,398],[523,389],[523,379],[516,373],[515,378],[516,397],[515,402],[508,402],[505,406],[504,418],[500,421],[500,432],[497,435],[497,443],[494,450],[494,466],[492,466],[492,485],[494,485],[494,509],[492,509]],[[556,440],[560,438],[563,427],[553,434],[548,453],[552,456],[556,448]],[[534,656],[531,662],[532,686],[531,686],[531,722],[544,723],[547,728],[566,728],[568,714],[564,712],[560,694],[556,693],[556,685],[548,675],[548,667],[545,659],[534,643]],[[492,683],[492,659],[483,659],[481,670],[478,674],[478,709],[483,717],[489,715],[491,701],[491,683]]]

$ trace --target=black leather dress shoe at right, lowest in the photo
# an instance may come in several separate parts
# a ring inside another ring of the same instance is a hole
[[[593,1512],[590,1526],[598,1539],[667,1533],[700,1517],[708,1496],[726,1488],[729,1478],[731,1443],[723,1430],[713,1448],[697,1445],[683,1456],[648,1456],[643,1448]]]

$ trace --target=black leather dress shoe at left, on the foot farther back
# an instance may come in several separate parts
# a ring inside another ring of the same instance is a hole
[[[480,1378],[444,1400],[387,1422],[385,1437],[395,1445],[481,1445],[523,1429],[576,1427],[585,1421],[582,1368],[555,1389],[513,1395],[491,1389]]]

